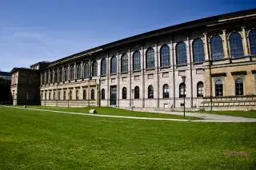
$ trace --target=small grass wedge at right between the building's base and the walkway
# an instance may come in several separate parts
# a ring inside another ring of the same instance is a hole
[[[210,113],[218,115],[229,115],[234,117],[250,117],[256,118],[256,111],[202,111],[202,112],[193,112],[193,113]]]

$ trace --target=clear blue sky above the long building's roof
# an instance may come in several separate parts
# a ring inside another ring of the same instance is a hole
[[[255,0],[0,0],[0,69],[29,67]]]

